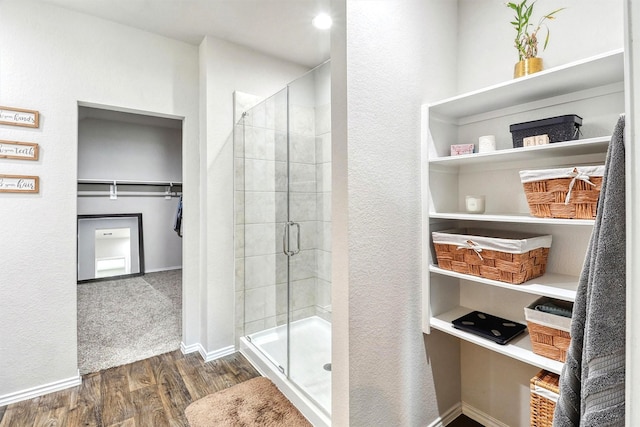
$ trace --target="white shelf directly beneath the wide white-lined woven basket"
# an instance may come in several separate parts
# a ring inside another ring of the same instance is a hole
[[[528,294],[546,296],[550,298],[561,299],[564,301],[575,300],[576,289],[578,288],[578,277],[565,274],[546,273],[520,285],[500,282],[498,280],[485,279],[484,277],[472,276],[469,274],[456,273],[455,271],[445,270],[436,265],[430,265],[429,271],[442,276],[455,277],[457,279],[469,280],[471,282],[481,283],[483,285],[496,286],[498,288],[509,289],[515,292],[524,292]]]

